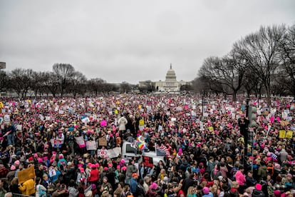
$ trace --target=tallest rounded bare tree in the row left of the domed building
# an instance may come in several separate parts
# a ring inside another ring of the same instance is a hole
[[[71,79],[75,75],[75,69],[71,64],[54,64],[53,73],[57,76],[57,82],[61,91],[61,97],[63,97],[66,88],[68,88]]]

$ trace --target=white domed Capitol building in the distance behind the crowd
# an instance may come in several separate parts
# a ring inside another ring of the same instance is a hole
[[[165,81],[140,81],[138,86],[153,86],[157,92],[179,92],[180,87],[187,84],[190,84],[190,82],[176,80],[175,71],[172,69],[172,64],[170,64],[170,69],[167,71]]]

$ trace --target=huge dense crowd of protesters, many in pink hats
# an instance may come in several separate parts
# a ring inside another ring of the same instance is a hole
[[[294,100],[273,98],[269,105],[251,98],[257,126],[247,139],[246,98],[206,100],[180,94],[3,98],[0,197],[294,196]],[[165,159],[145,166],[108,155],[123,141],[137,146],[138,136],[145,141],[138,154],[158,144]],[[81,146],[79,137],[95,141],[96,149]],[[19,181],[29,168],[35,176]]]

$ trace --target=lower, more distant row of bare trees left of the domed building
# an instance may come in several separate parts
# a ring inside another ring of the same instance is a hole
[[[98,96],[110,92],[129,92],[133,88],[127,82],[110,84],[95,78],[86,79],[71,64],[54,64],[53,71],[33,71],[32,69],[14,69],[1,71],[0,91],[15,92],[19,97],[27,96]]]

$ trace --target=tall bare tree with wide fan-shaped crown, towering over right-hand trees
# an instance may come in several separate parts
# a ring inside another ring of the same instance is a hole
[[[270,104],[271,77],[276,74],[279,65],[279,44],[284,39],[286,28],[281,26],[260,27],[259,31],[249,34],[234,44],[234,51],[247,61],[251,69],[261,81]]]

